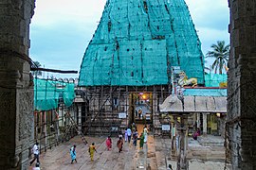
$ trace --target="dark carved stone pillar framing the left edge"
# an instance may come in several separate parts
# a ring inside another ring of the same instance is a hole
[[[29,24],[34,0],[0,1],[0,169],[28,169],[33,140]]]

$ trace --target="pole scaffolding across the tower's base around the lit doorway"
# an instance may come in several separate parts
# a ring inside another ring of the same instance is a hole
[[[119,134],[132,123],[150,125],[155,134],[161,134],[158,105],[171,93],[170,86],[95,86],[82,88],[82,92],[85,101],[82,115],[85,117],[82,122],[84,134]],[[143,94],[147,94],[147,98],[138,100]],[[149,103],[148,118],[146,114],[141,119],[137,117],[138,101]]]

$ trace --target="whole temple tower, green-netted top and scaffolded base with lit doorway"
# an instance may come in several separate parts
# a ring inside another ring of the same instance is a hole
[[[136,122],[160,132],[158,105],[172,93],[174,67],[204,85],[201,43],[185,1],[107,0],[80,70],[88,130],[109,133]]]

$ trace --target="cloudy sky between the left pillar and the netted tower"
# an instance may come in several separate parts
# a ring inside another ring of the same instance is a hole
[[[46,68],[79,71],[104,4],[105,0],[37,0],[30,28],[30,57]]]

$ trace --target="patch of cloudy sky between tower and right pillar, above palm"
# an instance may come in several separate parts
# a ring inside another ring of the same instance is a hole
[[[217,41],[229,44],[229,5],[224,0],[186,0],[203,54]]]

